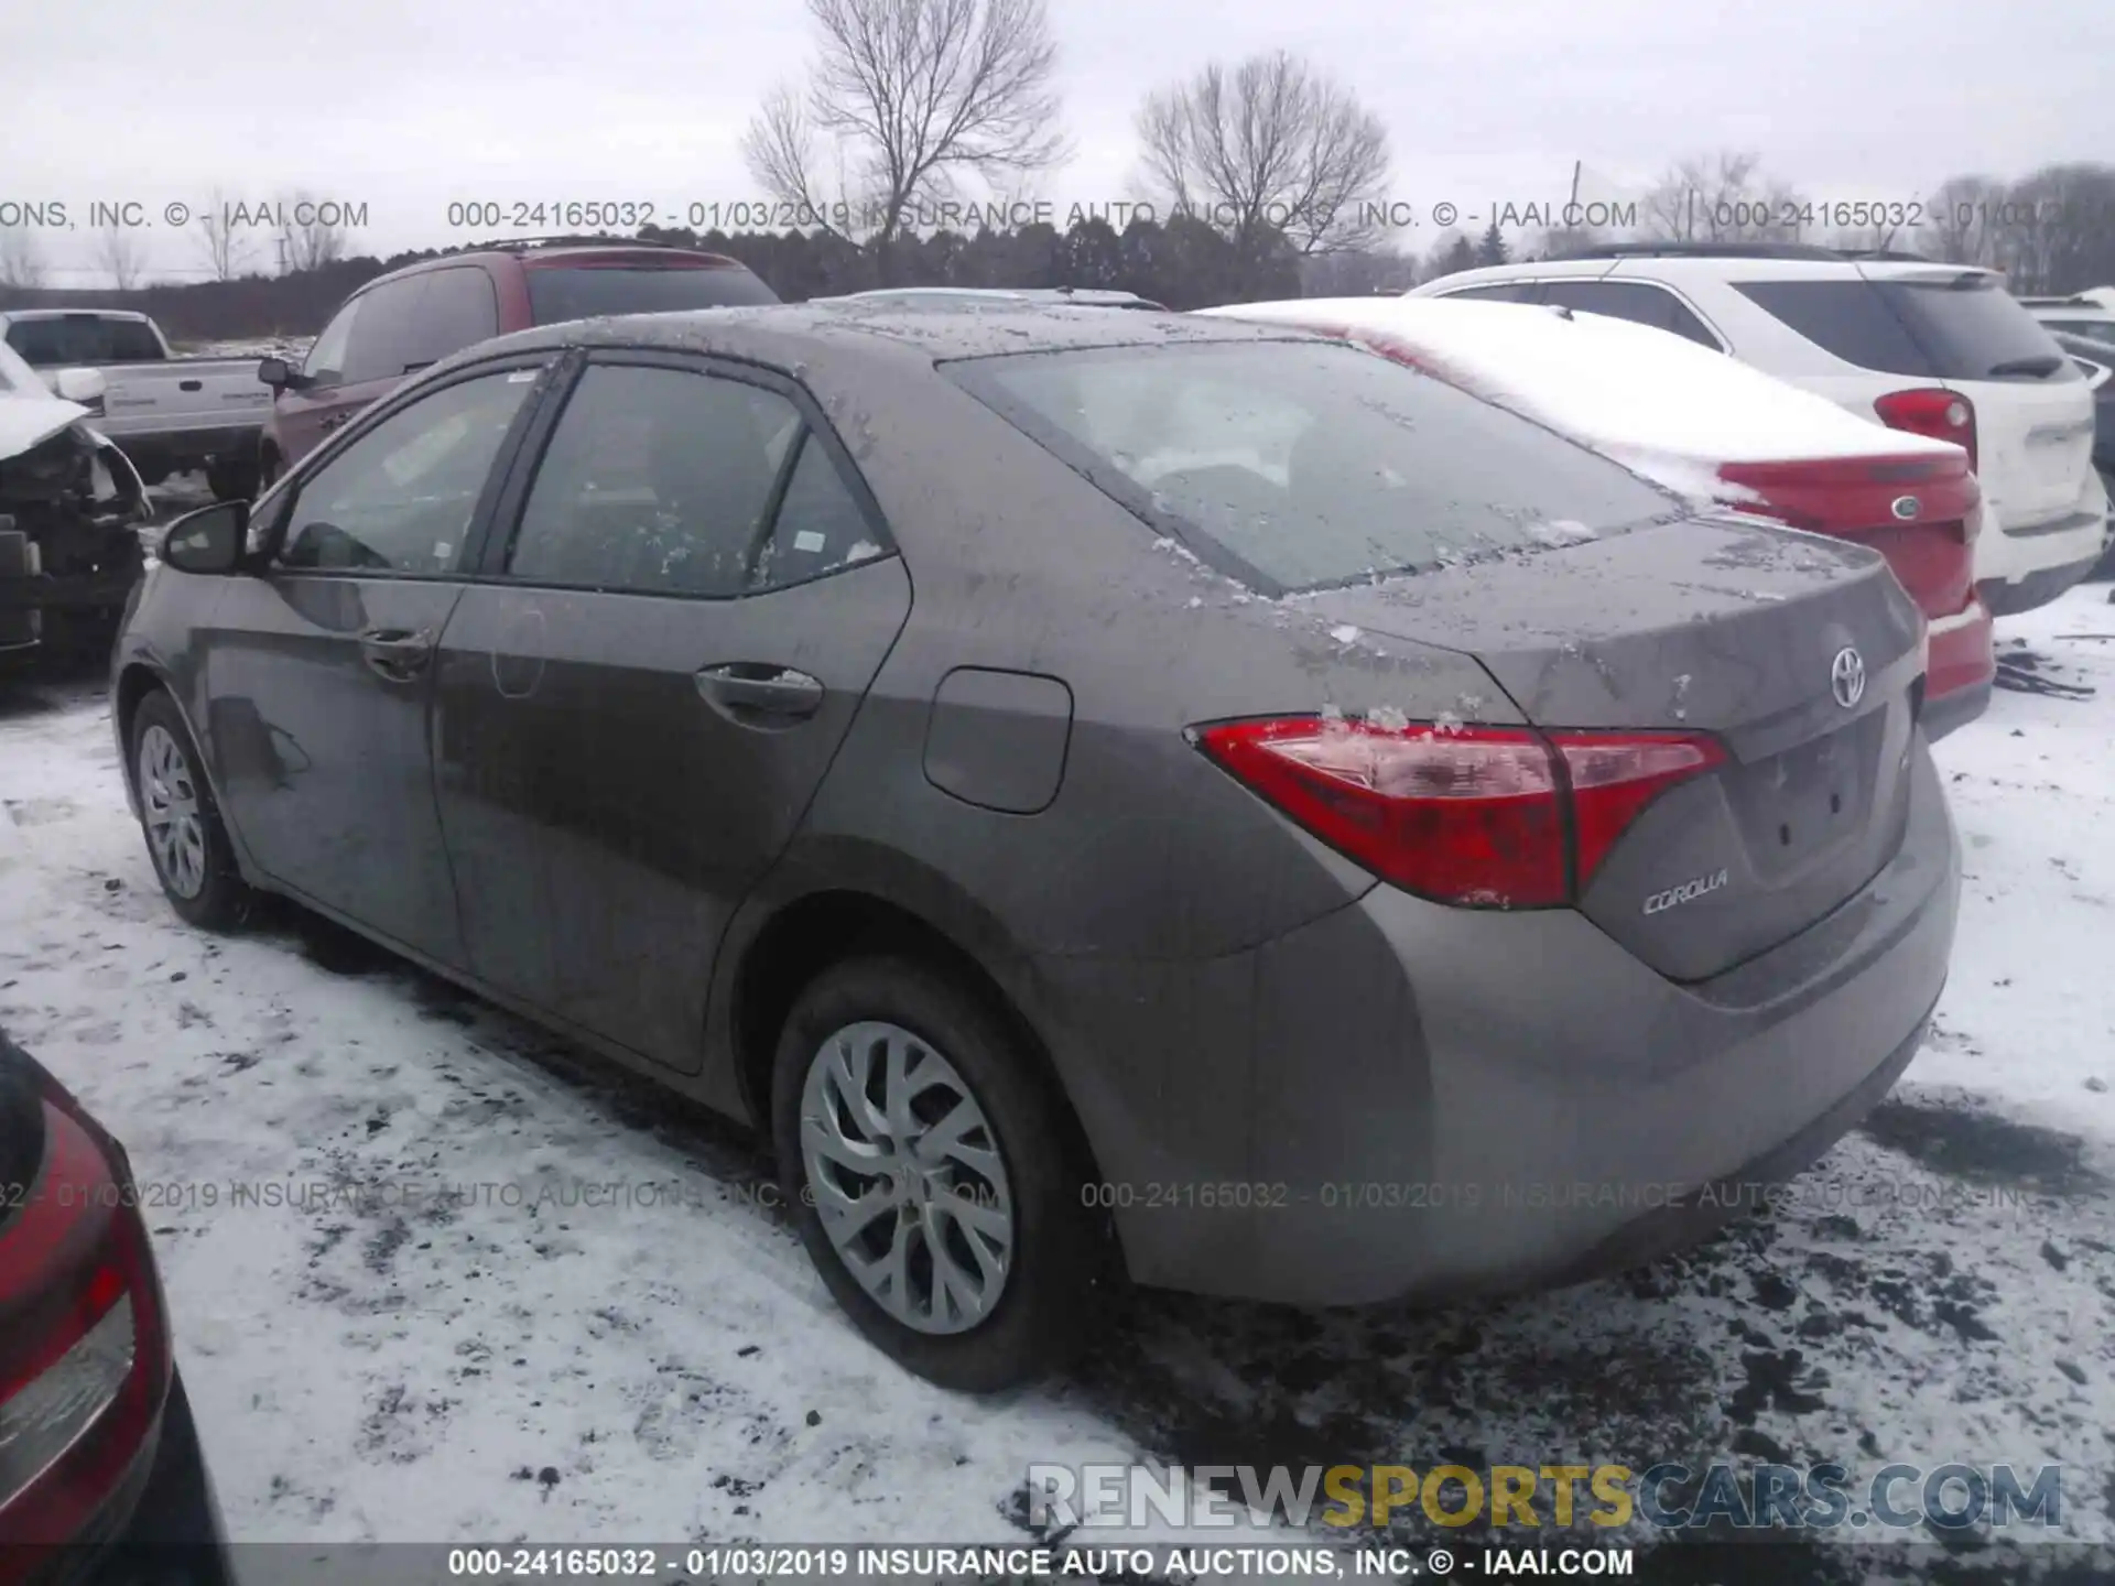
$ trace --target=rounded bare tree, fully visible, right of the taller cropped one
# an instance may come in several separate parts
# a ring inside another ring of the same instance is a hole
[[[1146,95],[1138,142],[1148,184],[1244,254],[1277,235],[1303,256],[1371,247],[1385,230],[1387,127],[1286,51]]]

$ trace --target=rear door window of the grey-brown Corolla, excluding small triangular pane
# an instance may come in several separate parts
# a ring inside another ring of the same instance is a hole
[[[508,573],[637,594],[740,594],[799,410],[689,370],[590,364],[552,431]]]

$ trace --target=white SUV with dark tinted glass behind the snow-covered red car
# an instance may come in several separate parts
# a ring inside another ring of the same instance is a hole
[[[2094,400],[1994,271],[1798,245],[1618,245],[1461,271],[1417,298],[1557,302],[1673,330],[1965,446],[1984,486],[1975,584],[1997,615],[2054,601],[2109,541]]]

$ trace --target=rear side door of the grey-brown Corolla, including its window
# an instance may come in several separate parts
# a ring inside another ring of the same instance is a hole
[[[787,379],[594,353],[537,431],[440,643],[465,947],[495,990],[696,1072],[719,937],[903,628],[909,575]]]

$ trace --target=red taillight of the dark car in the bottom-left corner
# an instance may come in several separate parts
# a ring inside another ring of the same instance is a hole
[[[72,1542],[142,1455],[169,1334],[131,1184],[93,1125],[44,1106],[36,1195],[0,1231],[0,1580]]]

